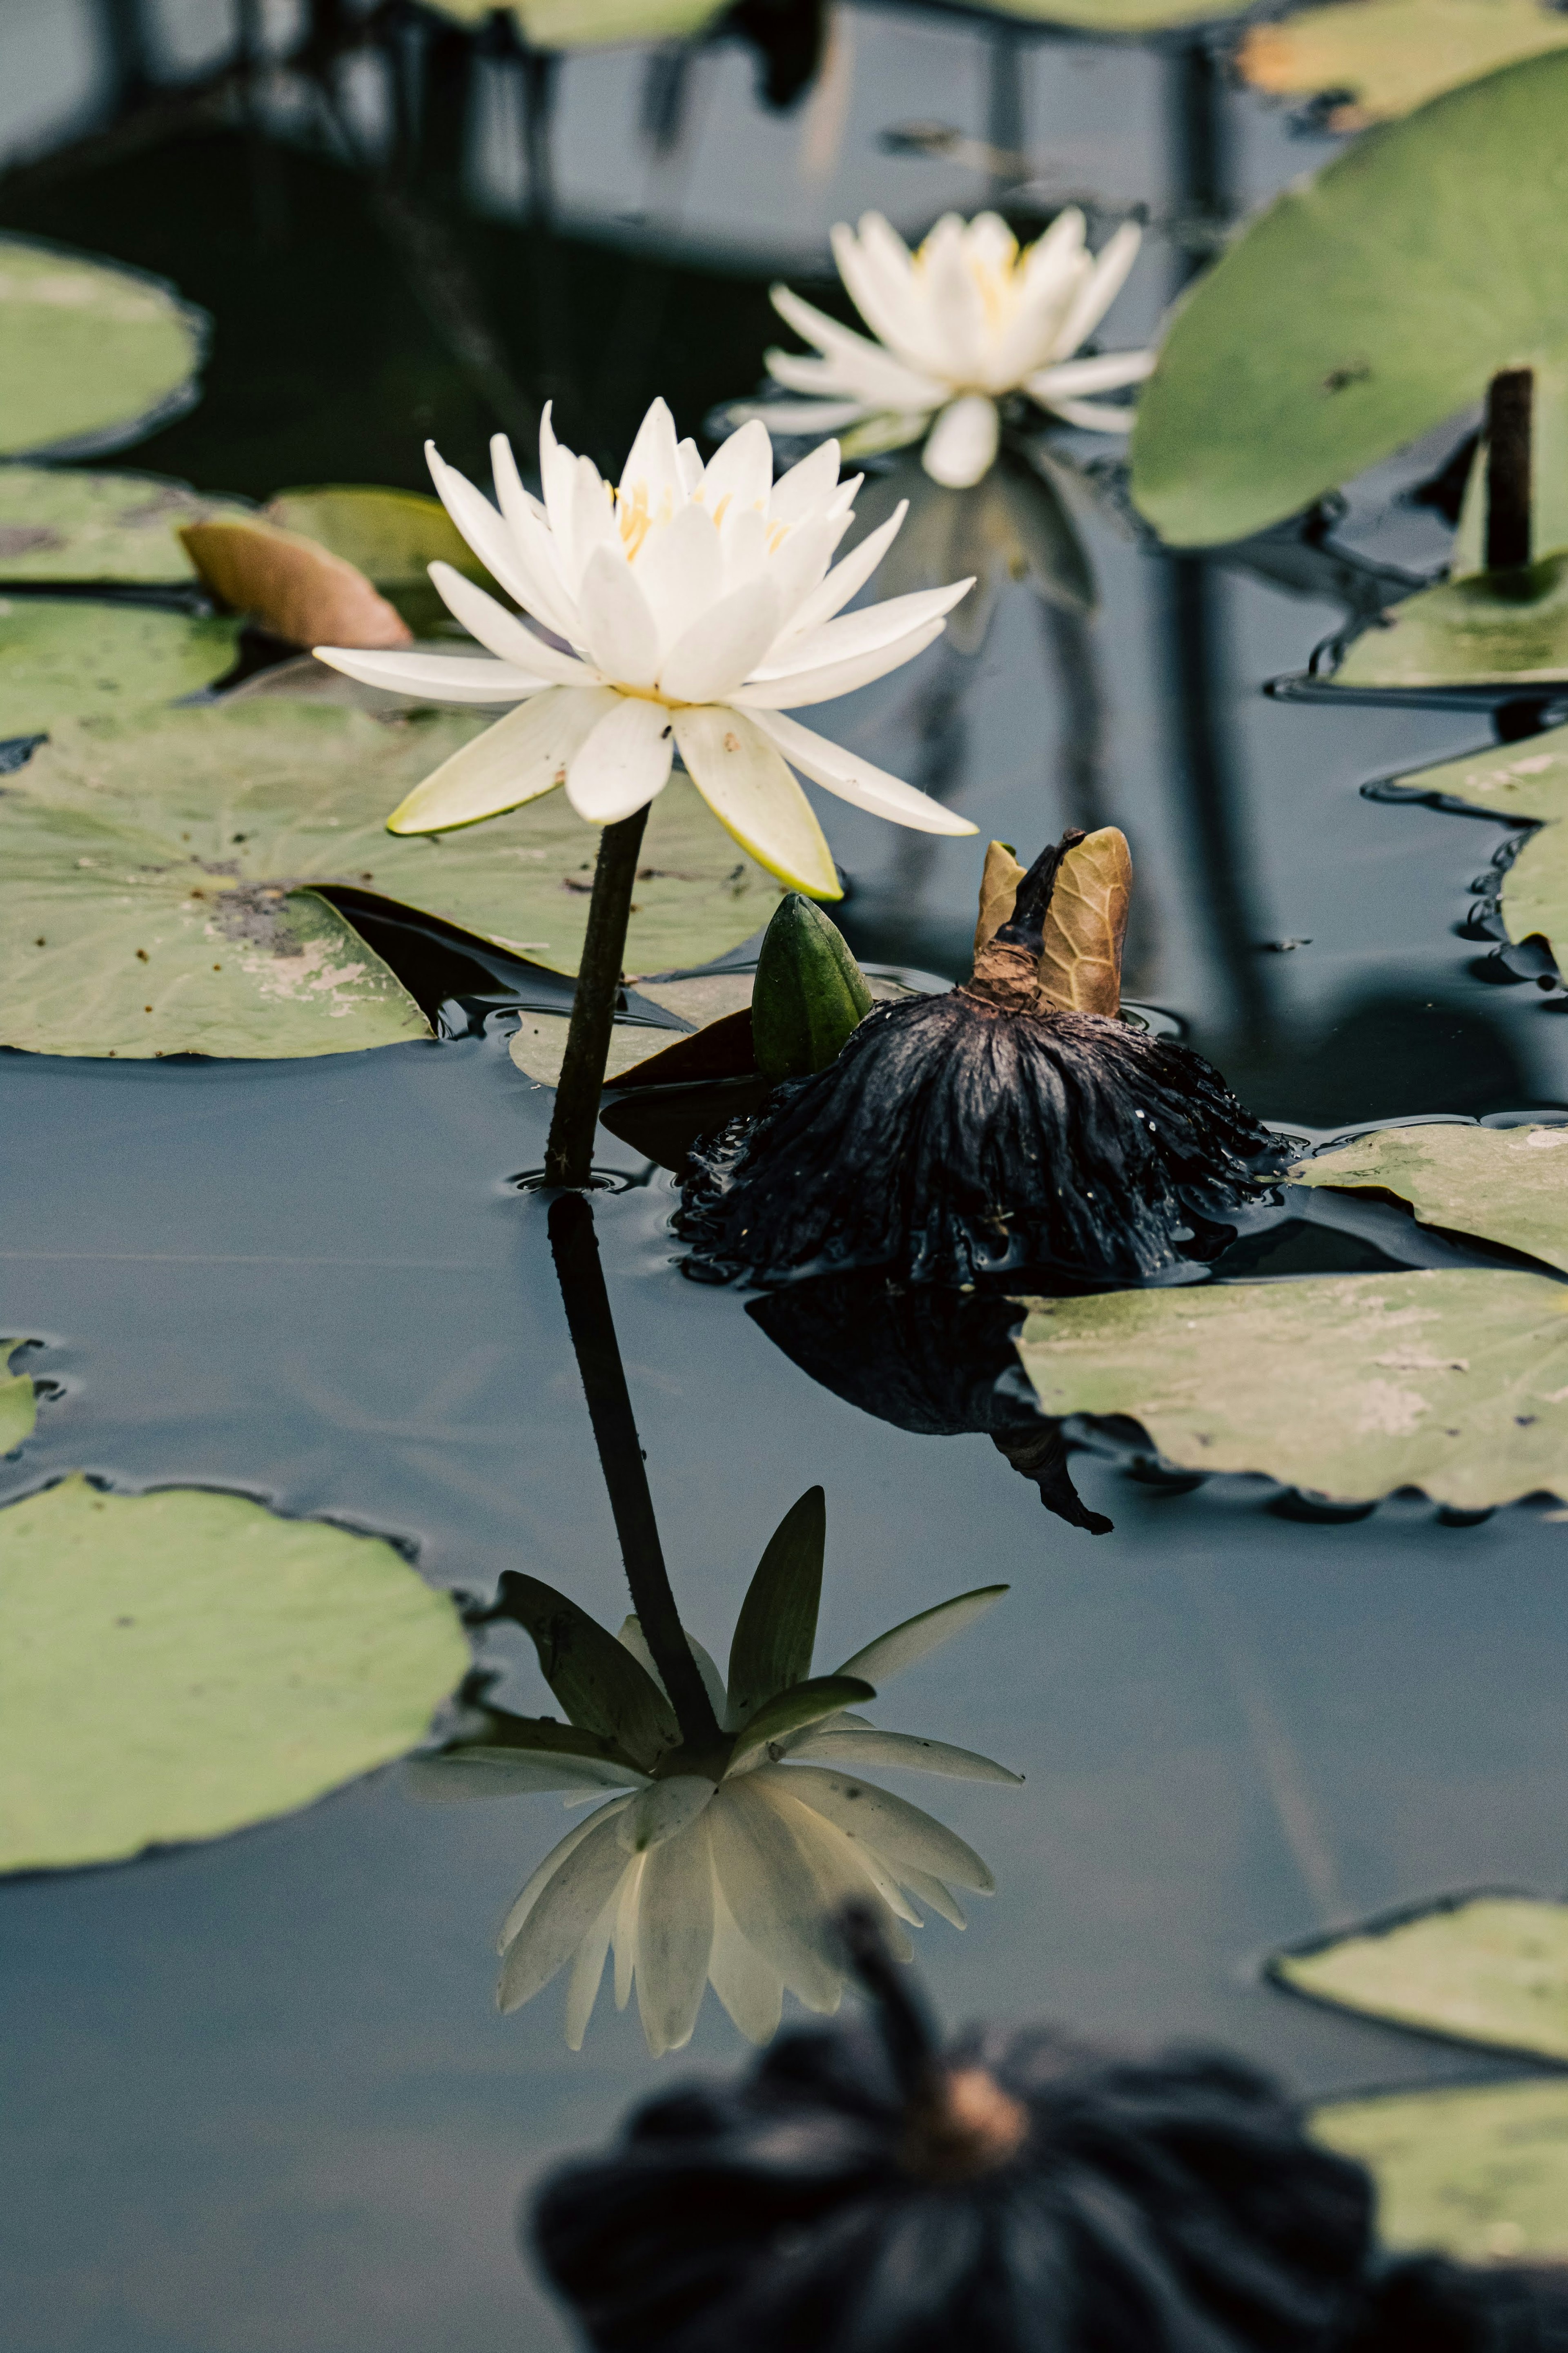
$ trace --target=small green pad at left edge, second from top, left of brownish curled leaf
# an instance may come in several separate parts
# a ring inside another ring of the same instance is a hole
[[[205,499],[155,473],[0,466],[0,581],[183,586],[195,572],[181,522],[242,513],[237,499]]]

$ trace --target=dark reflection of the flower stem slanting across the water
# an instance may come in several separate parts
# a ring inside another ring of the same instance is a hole
[[[712,1713],[708,1687],[696,1671],[686,1631],[670,1591],[658,1522],[654,1520],[654,1497],[649,1473],[642,1466],[637,1421],[621,1365],[616,1325],[609,1313],[604,1266],[599,1264],[599,1238],[592,1231],[592,1209],[581,1193],[562,1193],[550,1202],[550,1254],[567,1306],[567,1327],[576,1351],[592,1440],[599,1449],[599,1468],[609,1487],[609,1508],[616,1515],[625,1581],[632,1588],[632,1607],[642,1624],[642,1635],[654,1652],[670,1706],[682,1727],[682,1741],[698,1753],[717,1748],[724,1734]]]

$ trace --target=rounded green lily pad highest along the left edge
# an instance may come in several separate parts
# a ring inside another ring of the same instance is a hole
[[[92,254],[0,238],[0,456],[89,456],[195,400],[207,318]]]

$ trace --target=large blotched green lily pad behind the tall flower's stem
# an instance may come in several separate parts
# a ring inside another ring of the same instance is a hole
[[[480,725],[259,701],[52,727],[0,795],[0,1042],[289,1056],[428,1038],[317,896],[331,882],[571,972],[597,833],[564,795],[449,840],[386,833]],[[722,955],[776,901],[684,779],[658,795],[644,859],[628,965]]]

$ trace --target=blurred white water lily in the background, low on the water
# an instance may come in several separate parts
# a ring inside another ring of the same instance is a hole
[[[992,466],[1006,393],[1027,393],[1065,424],[1126,433],[1128,407],[1084,395],[1143,381],[1154,353],[1074,353],[1121,292],[1140,240],[1138,224],[1124,221],[1105,252],[1091,254],[1077,205],[1023,252],[997,212],[973,221],[943,214],[914,254],[879,212],[860,214],[858,235],[839,221],[839,278],[879,341],[773,287],[773,308],[816,358],[769,351],[769,374],[811,398],[733,414],[766,414],[778,433],[853,428],[853,454],[929,435],[926,473],[950,489],[969,489]]]

